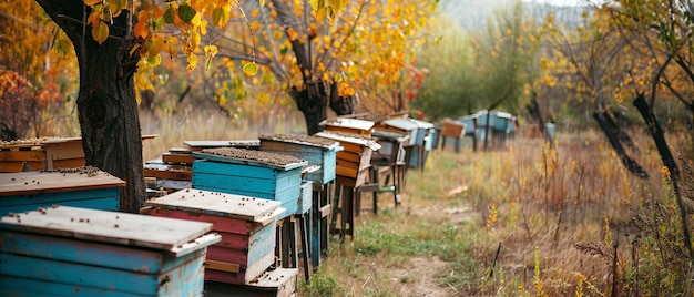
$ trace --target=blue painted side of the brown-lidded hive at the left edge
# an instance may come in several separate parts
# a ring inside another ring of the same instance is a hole
[[[2,196],[0,197],[0,215],[35,211],[39,207],[49,207],[53,204],[118,211],[120,187]]]

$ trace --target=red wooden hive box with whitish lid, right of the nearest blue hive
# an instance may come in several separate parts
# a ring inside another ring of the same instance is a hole
[[[186,188],[145,202],[153,216],[213,224],[222,240],[207,252],[205,279],[248,284],[275,263],[276,201]]]

